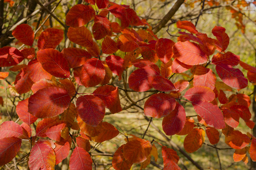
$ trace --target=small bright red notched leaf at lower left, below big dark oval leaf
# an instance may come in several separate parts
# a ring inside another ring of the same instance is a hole
[[[67,124],[59,124],[56,126],[52,126],[51,128],[46,130],[47,137],[54,141],[60,141],[61,139],[60,131],[64,129],[66,126]]]

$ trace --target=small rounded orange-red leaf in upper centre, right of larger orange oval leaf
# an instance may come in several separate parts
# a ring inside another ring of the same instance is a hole
[[[106,36],[101,45],[102,53],[113,54],[117,52],[117,42],[112,40],[109,36]]]

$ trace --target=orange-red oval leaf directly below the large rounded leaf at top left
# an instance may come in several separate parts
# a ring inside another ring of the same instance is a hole
[[[68,28],[68,39],[81,46],[93,46],[93,39],[90,31],[82,26],[79,28]]]

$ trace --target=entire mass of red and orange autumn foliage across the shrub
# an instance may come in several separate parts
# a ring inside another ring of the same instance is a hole
[[[81,48],[70,45],[60,51],[57,46],[64,39],[64,31],[58,28],[45,29],[35,41],[28,24],[20,24],[13,31],[26,48],[0,48],[0,66],[18,72],[9,89],[31,94],[16,106],[23,124],[5,121],[0,126],[1,166],[11,162],[23,143],[29,141],[31,150],[26,158],[31,170],[54,169],[70,150],[70,169],[92,169],[90,141],[101,143],[119,134],[114,125],[102,120],[106,109],[112,114],[124,109],[120,89],[131,105],[137,103],[128,90],[139,94],[154,89],[142,106],[144,115],[163,118],[166,135],[187,135],[184,149],[188,153],[203,145],[205,133],[216,145],[221,131],[226,145],[235,149],[235,162],[248,162],[247,153],[256,161],[256,138],[250,134],[254,127],[249,111],[251,100],[240,93],[248,81],[256,82],[256,68],[226,50],[229,36],[225,28],[215,26],[212,35],[207,35],[197,31],[193,23],[179,21],[176,26],[182,31],[174,42],[156,36],[146,20],[127,5],[108,0],[86,2],[90,5],[75,5],[66,16],[67,37]],[[110,16],[117,22],[110,22]],[[92,28],[86,28],[89,22]],[[22,64],[23,60],[27,64]],[[247,76],[239,65],[247,70]],[[131,69],[134,67],[137,69]],[[187,70],[190,75],[184,73]],[[113,74],[123,81],[123,87],[109,84]],[[1,79],[8,75],[1,72]],[[171,78],[178,75],[185,76],[172,82]],[[81,86],[97,88],[84,94],[79,92]],[[225,91],[232,95],[227,96]],[[198,123],[186,116],[181,101],[193,105]],[[248,127],[247,134],[236,130],[240,118]],[[146,168],[152,156],[157,162],[158,147],[162,148],[164,169],[180,169],[179,155],[170,146],[163,146],[157,139],[122,135],[126,144],[113,155],[114,169],[130,169],[133,164]]]

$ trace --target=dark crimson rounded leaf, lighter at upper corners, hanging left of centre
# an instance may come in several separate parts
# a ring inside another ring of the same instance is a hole
[[[96,127],[105,116],[105,105],[97,96],[80,96],[76,101],[76,105],[82,121],[90,126]]]

